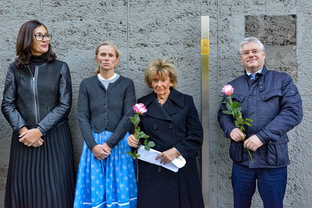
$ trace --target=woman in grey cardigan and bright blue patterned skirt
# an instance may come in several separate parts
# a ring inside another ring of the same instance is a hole
[[[137,186],[133,161],[126,152],[129,117],[136,103],[132,80],[116,74],[116,46],[101,43],[95,51],[95,76],[82,80],[78,120],[85,140],[80,158],[75,207],[136,207]]]

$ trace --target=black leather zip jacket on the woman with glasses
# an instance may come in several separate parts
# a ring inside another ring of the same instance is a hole
[[[16,105],[16,62],[7,69],[1,111],[14,132],[39,125],[46,133],[68,121],[72,92],[67,64],[60,60],[36,66],[33,77],[27,66],[20,70]]]

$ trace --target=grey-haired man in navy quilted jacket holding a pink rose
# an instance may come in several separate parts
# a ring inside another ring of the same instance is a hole
[[[243,118],[253,120],[245,126],[245,142],[233,116],[222,112],[225,104],[218,112],[224,136],[231,140],[234,207],[250,208],[257,181],[264,208],[282,208],[289,164],[286,133],[302,120],[302,100],[290,75],[266,68],[264,46],[257,38],[245,38],[240,54],[244,75],[229,84]]]

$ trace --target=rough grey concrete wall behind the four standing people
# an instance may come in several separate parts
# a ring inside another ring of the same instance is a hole
[[[121,61],[116,71],[133,80],[137,98],[150,92],[143,83],[146,65],[158,57],[171,59],[178,71],[178,90],[194,97],[200,113],[200,16],[208,15],[209,207],[233,207],[229,140],[223,137],[217,122],[217,103],[222,98],[222,87],[243,73],[239,43],[251,33],[273,40],[263,38],[269,65],[273,67],[270,69],[276,67],[276,70],[291,74],[301,93],[304,119],[288,134],[291,164],[284,207],[312,208],[312,144],[309,142],[312,133],[311,7],[312,1],[307,0],[1,0],[0,93],[2,95],[7,66],[15,58],[20,26],[31,19],[40,20],[53,34],[51,44],[58,59],[67,62],[71,71],[73,105],[69,123],[77,169],[83,144],[76,118],[78,88],[82,79],[93,75],[96,46],[102,41],[117,45]],[[291,19],[292,15],[296,15],[296,20]],[[276,23],[279,18],[275,16],[289,17],[285,20],[286,26]],[[246,25],[254,28],[246,28]],[[296,31],[291,32],[291,27]],[[278,45],[277,39],[285,34],[292,42]],[[295,46],[296,51],[293,51]],[[0,124],[2,207],[12,130],[2,114]],[[203,151],[208,151],[208,147],[203,147]],[[200,157],[198,161],[201,161]],[[199,170],[200,167],[199,164]],[[256,192],[252,207],[262,206]]]

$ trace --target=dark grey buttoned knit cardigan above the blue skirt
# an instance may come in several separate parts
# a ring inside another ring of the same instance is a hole
[[[91,150],[97,143],[92,129],[114,132],[106,144],[114,148],[129,131],[132,105],[136,103],[134,84],[131,79],[120,76],[106,90],[97,76],[82,80],[78,95],[78,120],[82,136]]]

